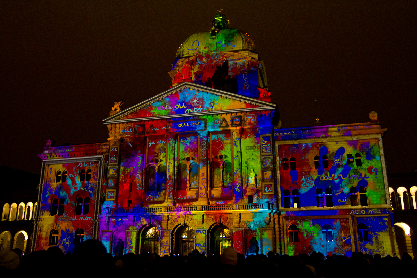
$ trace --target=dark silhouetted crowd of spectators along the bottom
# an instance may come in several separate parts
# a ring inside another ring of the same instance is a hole
[[[138,277],[141,275],[198,275],[215,277],[216,275],[275,275],[282,277],[333,278],[333,277],[371,277],[375,275],[397,276],[400,273],[412,273],[417,260],[408,253],[402,258],[379,254],[370,255],[353,252],[349,258],[344,255],[326,255],[313,252],[294,256],[244,255],[231,248],[209,253],[207,256],[193,250],[186,256],[156,253],[135,255],[127,253],[112,257],[98,240],[86,240],[76,246],[73,253],[63,253],[60,248],[51,246],[48,250],[35,251],[22,255],[20,249],[0,251],[0,273],[59,275],[60,277]]]

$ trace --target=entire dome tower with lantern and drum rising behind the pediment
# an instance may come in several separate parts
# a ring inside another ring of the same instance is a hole
[[[244,31],[228,26],[226,16],[218,14],[208,32],[191,35],[180,45],[169,72],[173,86],[187,81],[259,97],[257,88],[266,89],[268,83],[254,40]]]

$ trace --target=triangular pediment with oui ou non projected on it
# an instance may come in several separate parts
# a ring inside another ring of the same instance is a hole
[[[124,123],[255,110],[274,110],[276,104],[184,82],[103,120]]]

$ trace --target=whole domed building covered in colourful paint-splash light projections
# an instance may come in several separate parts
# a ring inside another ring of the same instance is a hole
[[[115,103],[108,143],[45,148],[35,250],[97,238],[113,254],[392,254],[379,124],[279,129],[254,41],[228,24],[217,15],[181,44],[169,90]]]

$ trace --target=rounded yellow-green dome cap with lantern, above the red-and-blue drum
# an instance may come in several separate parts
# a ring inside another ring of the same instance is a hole
[[[244,31],[228,28],[229,20],[225,15],[216,15],[212,23],[208,32],[196,33],[186,39],[178,48],[176,58],[214,51],[255,52],[254,40]]]

